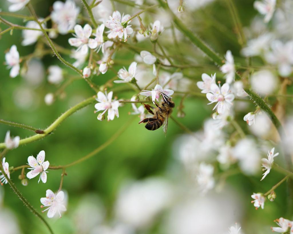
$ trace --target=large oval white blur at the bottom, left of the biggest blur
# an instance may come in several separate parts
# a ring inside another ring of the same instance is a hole
[[[149,178],[123,187],[116,202],[119,220],[135,228],[149,226],[171,202],[171,185],[160,178]]]

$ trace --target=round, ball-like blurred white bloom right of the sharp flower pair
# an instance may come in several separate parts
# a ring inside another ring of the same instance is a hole
[[[260,70],[251,76],[251,87],[262,95],[268,95],[277,88],[277,78],[269,70]]]

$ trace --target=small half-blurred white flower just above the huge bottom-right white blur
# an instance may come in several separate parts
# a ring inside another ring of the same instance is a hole
[[[213,178],[214,167],[210,164],[201,163],[197,183],[200,186],[202,193],[206,193],[214,187],[215,180]]]

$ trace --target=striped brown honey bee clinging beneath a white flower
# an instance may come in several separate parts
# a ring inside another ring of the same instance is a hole
[[[158,105],[156,102],[154,102],[157,107],[154,112],[151,110],[151,108],[154,107],[144,104],[144,107],[147,109],[147,111],[149,111],[149,113],[153,114],[154,116],[152,118],[145,118],[139,123],[147,123],[145,125],[145,128],[147,130],[156,130],[163,125],[163,131],[166,135],[168,128],[168,118],[169,115],[172,113],[173,108],[175,107],[175,103],[164,94],[162,94],[162,96],[163,102],[161,103],[161,105]]]

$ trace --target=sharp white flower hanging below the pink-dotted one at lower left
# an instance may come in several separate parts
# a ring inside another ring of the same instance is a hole
[[[46,191],[46,197],[41,197],[40,201],[43,204],[41,208],[48,207],[47,209],[43,210],[42,212],[49,210],[47,213],[48,218],[53,218],[58,211],[59,216],[61,218],[60,211],[66,211],[66,207],[63,205],[64,200],[64,192],[59,191],[56,195],[50,189]]]

